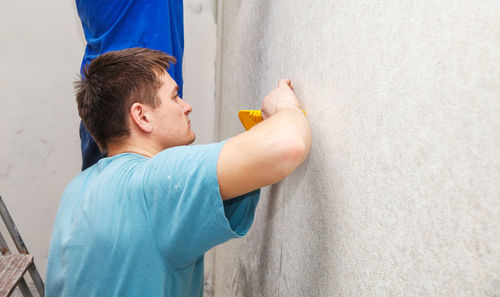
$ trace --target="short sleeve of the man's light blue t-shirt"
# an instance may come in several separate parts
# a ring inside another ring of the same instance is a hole
[[[217,161],[223,145],[174,147],[145,162],[144,199],[153,236],[174,268],[244,236],[252,225],[260,189],[221,198]]]

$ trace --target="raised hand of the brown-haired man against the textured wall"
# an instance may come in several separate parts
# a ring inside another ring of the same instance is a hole
[[[269,93],[262,101],[262,118],[267,119],[283,108],[300,108],[299,101],[293,92],[292,82],[282,79],[278,87]]]

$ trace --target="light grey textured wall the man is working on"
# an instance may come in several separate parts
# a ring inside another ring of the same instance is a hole
[[[313,145],[216,248],[209,294],[500,296],[500,2],[219,13],[218,137],[290,77]]]

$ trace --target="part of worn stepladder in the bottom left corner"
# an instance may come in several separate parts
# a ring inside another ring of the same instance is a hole
[[[0,216],[9,231],[19,254],[12,254],[7,246],[7,242],[0,232],[0,297],[8,297],[16,286],[19,286],[24,297],[33,297],[31,291],[24,280],[24,274],[28,271],[33,279],[33,283],[41,297],[45,297],[44,284],[38,270],[36,269],[33,256],[28,253],[28,249],[17,231],[16,225],[10,216],[2,197],[0,196]]]

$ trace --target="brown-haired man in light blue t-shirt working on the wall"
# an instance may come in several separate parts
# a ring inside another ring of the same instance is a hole
[[[203,255],[244,236],[260,188],[306,158],[308,121],[279,82],[265,120],[221,143],[194,141],[173,58],[109,52],[77,84],[79,114],[108,157],[67,186],[52,234],[46,295],[202,296]]]

